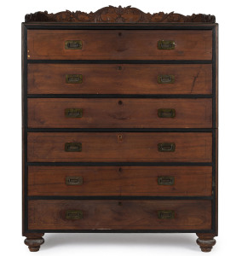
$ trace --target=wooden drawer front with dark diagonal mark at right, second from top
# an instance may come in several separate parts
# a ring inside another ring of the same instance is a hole
[[[28,64],[28,93],[211,94],[211,70],[210,64]]]

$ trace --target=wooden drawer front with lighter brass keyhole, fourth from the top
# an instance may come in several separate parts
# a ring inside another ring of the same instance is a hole
[[[211,162],[210,132],[29,132],[30,162]]]

